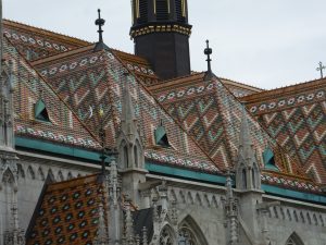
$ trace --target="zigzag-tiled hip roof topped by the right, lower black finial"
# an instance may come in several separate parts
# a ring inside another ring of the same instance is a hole
[[[221,169],[234,164],[242,109],[222,82],[216,77],[204,81],[204,74],[196,74],[150,89]],[[262,156],[267,146],[277,148],[278,168],[283,172],[300,174],[294,161],[279,149],[271,135],[253,118],[248,119],[258,157]]]

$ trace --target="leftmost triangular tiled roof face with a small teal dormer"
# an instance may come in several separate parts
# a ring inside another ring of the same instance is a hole
[[[88,149],[100,147],[96,137],[61,100],[18,51],[4,40],[4,58],[13,63],[15,134]],[[35,119],[35,105],[42,100],[50,122]]]

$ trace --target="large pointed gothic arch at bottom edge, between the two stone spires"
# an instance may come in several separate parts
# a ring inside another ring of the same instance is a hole
[[[208,245],[205,236],[191,216],[180,222],[178,234],[178,245]]]

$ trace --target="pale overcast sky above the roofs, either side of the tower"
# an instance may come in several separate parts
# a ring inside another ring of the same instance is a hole
[[[188,0],[191,69],[206,69],[205,39],[216,75],[262,88],[318,78],[326,65],[325,0]],[[5,19],[133,52],[130,0],[3,0]],[[325,71],[326,74],[326,71]]]

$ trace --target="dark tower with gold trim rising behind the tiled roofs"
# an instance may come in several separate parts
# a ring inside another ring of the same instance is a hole
[[[190,74],[187,0],[133,0],[135,54],[146,58],[162,79]]]

